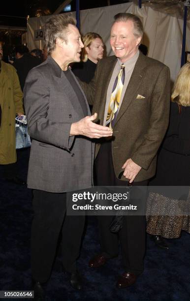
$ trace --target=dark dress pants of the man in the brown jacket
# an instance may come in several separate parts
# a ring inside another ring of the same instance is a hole
[[[127,186],[127,181],[118,180],[115,176],[111,141],[101,144],[98,155],[95,159],[96,183],[98,186]],[[125,163],[125,162],[123,162]],[[147,186],[148,181],[134,182],[133,186]],[[146,202],[145,194],[142,195],[142,202]],[[101,253],[106,258],[118,256],[119,242],[121,245],[122,260],[125,271],[136,275],[143,272],[144,254],[146,241],[146,219],[145,215],[125,215],[123,228],[119,233],[112,233],[109,226],[113,216],[98,216],[100,232]]]

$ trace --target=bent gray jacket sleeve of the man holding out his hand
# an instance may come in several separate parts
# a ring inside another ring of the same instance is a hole
[[[54,122],[48,118],[50,87],[43,74],[36,69],[32,69],[27,76],[24,105],[31,137],[69,151],[74,140],[74,136],[69,137],[71,123]]]

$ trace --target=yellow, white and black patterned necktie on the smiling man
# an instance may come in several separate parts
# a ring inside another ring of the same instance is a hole
[[[115,124],[116,118],[118,116],[118,107],[120,104],[121,94],[125,81],[125,65],[121,65],[121,70],[116,77],[113,90],[111,93],[111,99],[108,107],[106,126],[109,126],[111,129]]]

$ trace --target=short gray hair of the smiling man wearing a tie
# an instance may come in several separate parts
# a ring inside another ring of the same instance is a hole
[[[119,13],[114,16],[114,23],[132,21],[134,26],[133,34],[136,37],[143,36],[143,25],[139,17],[129,13]],[[113,24],[114,24],[113,23]]]

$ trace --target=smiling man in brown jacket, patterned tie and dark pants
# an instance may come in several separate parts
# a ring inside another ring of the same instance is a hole
[[[156,171],[157,151],[168,126],[170,74],[163,63],[139,52],[142,35],[138,17],[116,15],[110,37],[115,56],[100,60],[93,81],[89,85],[82,83],[89,102],[94,102],[93,112],[97,112],[99,123],[113,128],[110,140],[96,144],[98,186],[125,186],[127,181],[146,186]],[[115,116],[107,122],[114,82],[121,68],[125,68],[125,80],[118,109],[114,104]],[[142,196],[145,201],[146,195]],[[98,216],[101,252],[90,266],[100,267],[117,256],[119,239],[125,272],[117,286],[128,287],[144,269],[145,216],[124,216],[118,235],[109,230],[112,219],[113,216]]]

